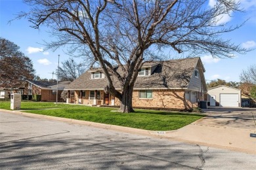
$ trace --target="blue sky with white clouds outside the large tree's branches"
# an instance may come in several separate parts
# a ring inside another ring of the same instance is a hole
[[[209,7],[215,3],[215,0],[209,1]],[[230,22],[232,25],[241,24],[244,20],[249,20],[243,27],[231,33],[223,35],[224,39],[231,39],[235,44],[241,44],[245,48],[256,48],[256,1],[242,0],[241,7],[246,11],[244,13],[223,16],[221,22]],[[33,29],[26,18],[22,20],[9,20],[15,18],[21,10],[27,11],[29,7],[22,3],[22,0],[0,0],[0,37],[8,39],[20,46],[20,50],[33,61],[33,67],[36,74],[41,78],[52,78],[51,74],[56,70],[58,64],[58,54],[60,62],[68,59],[65,49],[58,49],[55,52],[43,51],[43,41],[53,39],[47,33],[47,28]],[[205,79],[214,80],[221,78],[226,81],[239,81],[239,75],[243,69],[249,65],[256,64],[256,50],[247,52],[247,54],[234,54],[234,58],[213,59],[211,56],[202,55],[205,67]],[[75,58],[75,60],[79,60]]]

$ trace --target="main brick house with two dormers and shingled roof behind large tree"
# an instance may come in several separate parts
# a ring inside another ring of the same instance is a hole
[[[121,69],[117,68],[121,73]],[[200,58],[150,61],[139,71],[133,92],[133,107],[192,109],[206,100],[207,88]],[[100,68],[89,69],[75,79],[68,90],[67,103],[116,105],[119,100],[104,92],[107,80]],[[114,78],[114,86],[121,86]]]

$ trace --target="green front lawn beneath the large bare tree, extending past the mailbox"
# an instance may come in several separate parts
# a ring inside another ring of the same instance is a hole
[[[202,114],[163,112],[158,110],[135,109],[136,112],[126,114],[111,112],[111,110],[115,110],[113,108],[64,104],[60,104],[58,107],[65,109],[51,109],[55,108],[54,103],[51,102],[22,102],[24,112],[153,131],[179,129],[203,117]],[[10,102],[0,102],[0,109],[10,109]]]

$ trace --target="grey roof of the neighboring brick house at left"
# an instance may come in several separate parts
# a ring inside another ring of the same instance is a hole
[[[57,82],[45,82],[45,81],[36,81],[36,80],[26,80],[26,81],[44,90],[56,90],[56,86],[57,86]],[[58,90],[64,90],[64,88],[68,86],[68,84],[70,83],[71,83],[70,81],[58,82]]]

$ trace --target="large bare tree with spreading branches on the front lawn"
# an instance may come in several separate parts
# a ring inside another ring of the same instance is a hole
[[[240,11],[234,0],[217,0],[214,7],[207,0],[24,1],[31,10],[20,17],[26,16],[34,28],[51,27],[58,38],[49,48],[68,44],[71,52],[87,54],[100,65],[108,80],[104,90],[119,99],[121,112],[133,112],[133,87],[142,64],[156,56],[166,59],[166,49],[215,58],[246,52],[220,37],[240,27],[219,24],[222,14]]]

